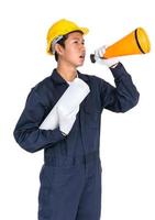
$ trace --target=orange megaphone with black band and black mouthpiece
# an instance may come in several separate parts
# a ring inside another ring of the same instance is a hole
[[[107,47],[101,58],[111,58],[117,56],[146,54],[151,51],[150,38],[144,29],[137,28],[130,34]],[[96,62],[95,54],[90,55],[92,63]]]

